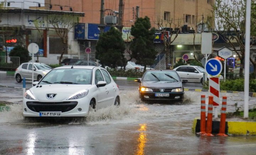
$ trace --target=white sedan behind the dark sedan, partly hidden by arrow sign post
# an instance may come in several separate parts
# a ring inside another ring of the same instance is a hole
[[[187,80],[188,82],[201,82],[203,83],[203,74],[206,73],[206,70],[200,66],[178,66],[174,68],[181,80]],[[207,74],[207,78],[209,79],[211,76]],[[223,80],[223,76],[221,75],[220,80]]]

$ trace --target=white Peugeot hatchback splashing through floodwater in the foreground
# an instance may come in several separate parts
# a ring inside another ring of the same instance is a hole
[[[86,117],[89,109],[120,105],[119,88],[97,66],[54,68],[23,97],[24,117]]]

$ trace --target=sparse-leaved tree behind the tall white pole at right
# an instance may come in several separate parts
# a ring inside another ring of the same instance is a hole
[[[255,35],[256,23],[256,4],[252,1],[251,7],[251,34]],[[216,26],[212,26],[215,33],[222,35],[223,39],[231,46],[241,60],[240,77],[243,76],[245,57],[245,18],[246,18],[246,1],[245,0],[216,0],[213,5],[213,13],[216,16]],[[221,31],[223,30],[223,31]],[[240,51],[235,47],[239,46]],[[256,73],[256,58],[250,57]]]

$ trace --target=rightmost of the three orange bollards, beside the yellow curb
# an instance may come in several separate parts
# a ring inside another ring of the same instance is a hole
[[[219,134],[220,136],[228,136],[225,134],[225,128],[226,128],[226,101],[227,97],[223,96],[222,98],[222,112],[220,115],[220,129],[219,129]]]

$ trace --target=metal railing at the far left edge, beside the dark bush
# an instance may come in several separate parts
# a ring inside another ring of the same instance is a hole
[[[16,69],[20,66],[20,57],[0,56],[0,68]]]

